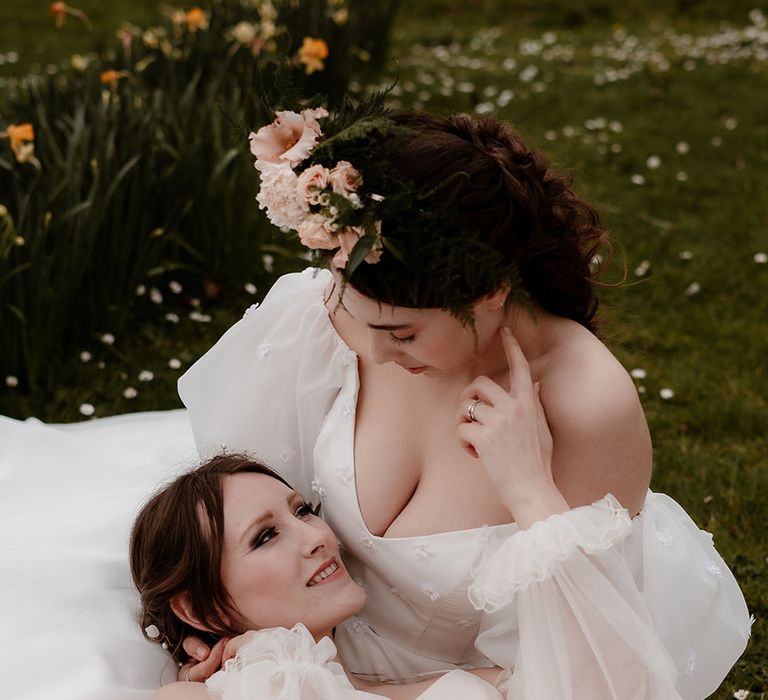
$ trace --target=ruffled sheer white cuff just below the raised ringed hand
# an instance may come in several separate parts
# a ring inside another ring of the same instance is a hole
[[[470,602],[476,610],[495,612],[532,583],[550,578],[576,549],[602,552],[631,530],[629,513],[611,494],[590,506],[551,515],[483,556],[472,571]]]

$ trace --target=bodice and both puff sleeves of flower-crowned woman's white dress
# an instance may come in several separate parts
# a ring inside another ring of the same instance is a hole
[[[367,593],[336,643],[380,680],[497,665],[515,700],[703,698],[744,650],[738,584],[685,511],[648,493],[630,519],[610,495],[537,523],[405,538],[357,501],[357,357],[323,304],[327,271],[278,280],[180,380],[203,456],[245,451],[322,512]]]

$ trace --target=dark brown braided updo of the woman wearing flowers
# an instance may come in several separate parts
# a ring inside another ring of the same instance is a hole
[[[394,119],[407,135],[382,157],[395,177],[426,196],[402,213],[407,222],[382,224],[404,254],[385,252],[377,264],[357,266],[347,282],[382,303],[459,317],[506,283],[595,332],[592,260],[609,245],[608,235],[570,178],[495,117]],[[399,229],[407,237],[398,237]]]

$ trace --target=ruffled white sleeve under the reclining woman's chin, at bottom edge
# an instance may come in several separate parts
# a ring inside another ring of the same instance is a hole
[[[301,623],[263,629],[206,681],[206,689],[214,700],[381,700],[355,690],[335,657],[333,642],[315,642]]]

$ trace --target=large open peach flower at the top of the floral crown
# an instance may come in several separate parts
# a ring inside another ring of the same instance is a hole
[[[266,163],[288,163],[293,168],[301,163],[322,136],[317,120],[327,116],[322,107],[305,109],[301,114],[278,112],[275,121],[248,136],[256,168],[263,170]]]

